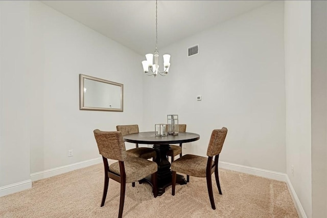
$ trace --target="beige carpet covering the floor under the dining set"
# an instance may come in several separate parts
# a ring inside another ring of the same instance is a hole
[[[103,165],[97,164],[33,182],[33,187],[0,198],[0,217],[118,217],[120,184],[110,180],[100,207]],[[211,208],[205,178],[190,178],[153,198],[150,185],[127,184],[123,217],[298,217],[287,185],[219,169],[222,195],[213,183]],[[214,179],[214,177],[213,177]],[[214,180],[213,180],[214,181]]]

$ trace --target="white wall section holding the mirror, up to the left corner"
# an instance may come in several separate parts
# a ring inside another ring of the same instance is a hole
[[[142,129],[141,56],[40,2],[30,19],[31,173],[100,157],[96,128]],[[124,112],[80,111],[79,74],[123,83]]]

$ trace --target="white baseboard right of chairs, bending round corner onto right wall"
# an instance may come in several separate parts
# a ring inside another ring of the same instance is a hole
[[[228,162],[223,162],[223,161],[219,161],[218,166],[223,169],[229,169],[229,170],[233,170],[233,171],[237,171],[237,172],[244,172],[244,173],[254,175],[254,176],[259,176],[259,177],[264,177],[264,178],[268,178],[268,179],[286,182],[288,190],[291,194],[293,203],[295,205],[297,214],[299,215],[300,218],[307,218],[306,212],[303,209],[303,207],[300,203],[300,200],[297,198],[297,194],[296,194],[296,192],[293,188],[293,185],[286,173],[275,172],[275,171],[270,171],[270,170],[266,170],[266,169],[249,167],[249,166],[233,164],[233,163],[228,163]]]

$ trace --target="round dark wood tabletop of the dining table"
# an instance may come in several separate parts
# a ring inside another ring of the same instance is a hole
[[[177,144],[199,140],[200,135],[195,133],[178,133],[176,136],[155,136],[154,132],[143,132],[129,134],[123,138],[126,142],[138,144]]]

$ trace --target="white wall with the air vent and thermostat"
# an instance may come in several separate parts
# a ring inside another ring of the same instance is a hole
[[[178,114],[200,134],[187,152],[205,156],[212,130],[225,126],[221,161],[286,172],[283,13],[284,3],[273,2],[159,47],[171,54],[171,68],[166,77],[144,76],[148,130]],[[197,44],[199,54],[187,57]]]

